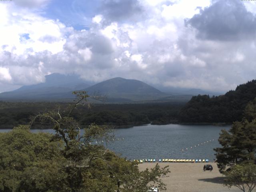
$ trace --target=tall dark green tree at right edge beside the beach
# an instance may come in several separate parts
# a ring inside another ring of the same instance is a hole
[[[246,118],[234,122],[229,131],[222,130],[219,142],[222,148],[214,149],[220,172],[242,162],[255,162],[256,151],[256,100],[249,102],[244,112]]]

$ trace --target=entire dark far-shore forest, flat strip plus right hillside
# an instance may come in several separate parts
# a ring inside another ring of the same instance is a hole
[[[249,81],[224,95],[193,96],[185,102],[154,102],[137,104],[96,104],[80,106],[72,117],[82,125],[96,123],[114,128],[142,124],[226,123],[242,120],[243,112],[256,97],[256,80]],[[28,124],[32,116],[56,108],[64,109],[66,102],[1,102],[0,128],[8,129]],[[35,126],[35,128],[37,128]],[[47,124],[38,128],[48,128]]]

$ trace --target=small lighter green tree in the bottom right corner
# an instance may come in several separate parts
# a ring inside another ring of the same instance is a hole
[[[243,192],[251,192],[256,186],[255,164],[237,164],[224,174],[226,176],[225,185],[229,188],[236,186]]]

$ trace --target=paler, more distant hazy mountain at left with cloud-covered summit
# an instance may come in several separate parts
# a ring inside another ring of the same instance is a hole
[[[45,76],[45,82],[22,86],[14,91],[0,93],[0,100],[58,100],[74,98],[74,90],[89,87],[86,82],[76,75],[50,74]]]

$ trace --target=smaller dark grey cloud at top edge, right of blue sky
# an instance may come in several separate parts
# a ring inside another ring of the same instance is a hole
[[[143,12],[138,0],[106,0],[100,10],[111,21],[137,20]]]

